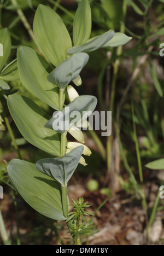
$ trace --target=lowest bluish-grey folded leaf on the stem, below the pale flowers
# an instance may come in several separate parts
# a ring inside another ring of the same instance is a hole
[[[63,187],[67,187],[69,179],[79,164],[83,150],[84,147],[80,146],[63,158],[41,159],[37,161],[36,168],[61,183]]]

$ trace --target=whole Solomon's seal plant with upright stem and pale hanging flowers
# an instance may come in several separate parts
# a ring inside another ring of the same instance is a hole
[[[67,185],[79,162],[86,165],[82,154],[91,154],[90,149],[83,146],[84,135],[80,127],[88,126],[87,117],[82,113],[92,113],[97,99],[90,95],[79,96],[69,83],[73,81],[75,85],[81,85],[80,72],[89,60],[88,52],[101,47],[119,46],[131,38],[114,31],[90,38],[89,0],[82,0],[75,14],[73,43],[60,16],[42,4],[34,17],[33,31],[49,63],[33,49],[21,46],[17,51],[20,79],[31,94],[47,103],[55,112],[51,118],[30,98],[17,94],[8,97],[8,108],[26,140],[52,155],[52,158],[40,159],[36,164],[11,160],[8,174],[29,205],[46,217],[66,220],[75,244],[80,244],[77,229],[69,216]],[[67,106],[66,91],[69,97]],[[69,123],[66,118],[68,107]],[[72,122],[74,111],[80,113],[76,124]],[[57,125],[54,125],[56,120]],[[77,143],[67,143],[68,132],[77,139]],[[78,216],[83,213],[80,211]]]

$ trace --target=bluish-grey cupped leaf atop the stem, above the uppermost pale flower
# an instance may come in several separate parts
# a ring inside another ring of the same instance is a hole
[[[86,53],[74,54],[48,75],[49,82],[65,90],[66,86],[78,77],[88,60],[89,55]]]

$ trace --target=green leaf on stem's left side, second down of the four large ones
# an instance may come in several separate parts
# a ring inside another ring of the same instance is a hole
[[[25,88],[54,109],[59,109],[58,88],[48,79],[48,63],[33,49],[22,46],[17,51],[17,66]]]

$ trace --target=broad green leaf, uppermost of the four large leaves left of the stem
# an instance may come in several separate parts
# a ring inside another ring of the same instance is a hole
[[[33,31],[40,48],[54,66],[67,59],[67,50],[72,47],[72,42],[65,24],[55,11],[39,4]]]

